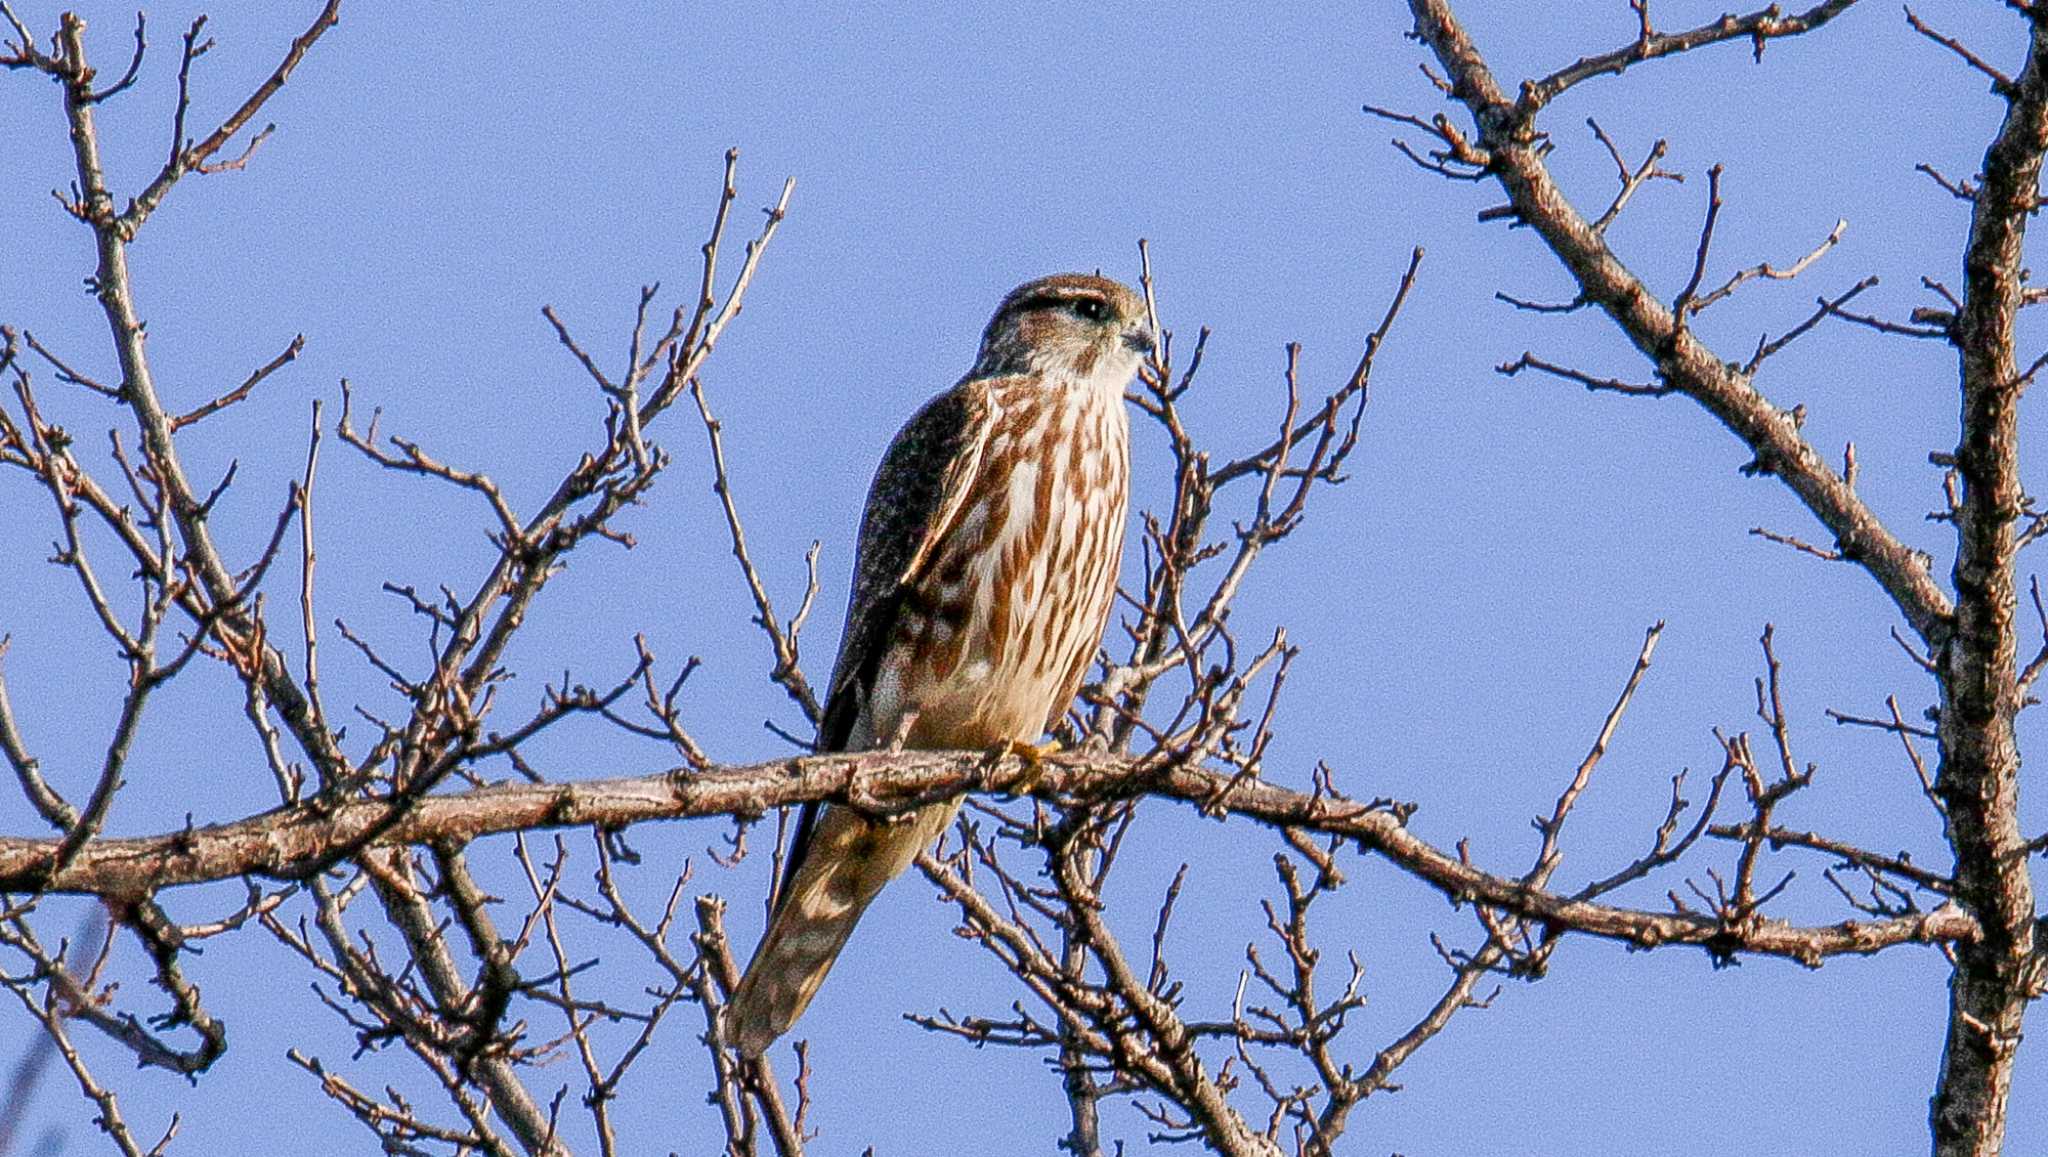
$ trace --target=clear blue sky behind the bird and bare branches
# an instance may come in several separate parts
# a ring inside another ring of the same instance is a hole
[[[55,8],[23,8],[39,33],[53,27]],[[82,8],[111,72],[125,61],[131,10]],[[160,162],[174,37],[193,10],[150,10],[156,55],[135,90],[102,109],[121,190]],[[1458,10],[1509,80],[1634,31],[1620,0],[1466,0]],[[1677,0],[1655,8],[1661,27],[1718,12]],[[309,14],[309,4],[219,6],[197,119],[240,100]],[[1999,63],[2023,47],[2017,20],[1993,4],[1931,2],[1923,14]],[[293,334],[307,338],[297,365],[186,438],[199,477],[240,461],[242,483],[215,520],[231,545],[252,549],[268,530],[301,465],[309,403],[328,399],[332,416],[342,377],[360,403],[385,410],[387,430],[487,467],[530,504],[602,414],[541,305],[618,360],[637,289],[694,278],[723,149],[741,149],[739,227],[795,176],[788,221],[705,381],[756,559],[784,606],[801,592],[805,547],[823,541],[821,610],[805,639],[805,666],[821,678],[881,446],[967,369],[1012,285],[1063,268],[1135,281],[1137,240],[1149,238],[1165,326],[1214,330],[1188,405],[1202,436],[1231,448],[1270,436],[1286,342],[1305,346],[1305,381],[1341,381],[1419,244],[1430,256],[1380,358],[1352,479],[1272,551],[1235,618],[1243,637],[1286,625],[1305,647],[1272,774],[1303,782],[1327,760],[1356,795],[1417,801],[1415,825],[1432,840],[1470,838],[1483,862],[1518,870],[1534,852],[1528,819],[1548,811],[1583,756],[1642,629],[1667,620],[1657,668],[1567,840],[1561,883],[1595,879],[1647,846],[1673,772],[1692,768],[1698,782],[1718,766],[1710,727],[1755,727],[1755,639],[1776,623],[1794,739],[1821,766],[1784,819],[1946,862],[1896,743],[1823,715],[1876,713],[1886,694],[1911,713],[1931,698],[1888,639],[1894,616],[1876,588],[1751,537],[1751,526],[1812,526],[1782,489],[1743,477],[1741,446],[1690,403],[1493,373],[1524,350],[1602,375],[1642,377],[1642,367],[1599,317],[1532,317],[1493,301],[1497,289],[1563,299],[1567,278],[1528,231],[1475,221],[1497,190],[1415,170],[1389,147],[1393,127],[1360,115],[1366,102],[1438,109],[1405,29],[1391,2],[1200,16],[1137,2],[344,8],[266,111],[279,129],[250,168],[188,180],[150,221],[131,258],[139,307],[162,389],[184,405],[233,385]],[[1710,164],[1726,166],[1710,283],[1788,262],[1849,221],[1798,283],[1757,285],[1700,319],[1724,356],[1743,358],[1759,332],[1790,328],[1815,295],[1866,274],[1882,285],[1862,301],[1894,317],[1925,303],[1923,274],[1954,283],[1964,207],[1913,166],[1974,172],[1997,113],[1978,78],[1915,37],[1896,8],[1860,4],[1817,37],[1774,45],[1763,63],[1724,45],[1589,82],[1546,127],[1581,207],[1604,205],[1612,188],[1585,117],[1634,156],[1669,139],[1665,166],[1686,184],[1642,190],[1610,235],[1667,297],[1690,270]],[[104,373],[104,332],[80,289],[90,240],[47,197],[70,176],[55,92],[0,76],[0,322]],[[1923,514],[1939,502],[1925,455],[1954,440],[1952,358],[1935,344],[1823,326],[1772,360],[1759,385],[1808,408],[1817,444],[1855,440],[1866,498],[1946,573],[1946,532]],[[104,401],[49,385],[45,405],[94,444],[119,420]],[[768,655],[725,551],[702,436],[684,418],[672,414],[657,434],[676,467],[627,518],[639,547],[588,551],[549,588],[512,655],[528,672],[514,704],[530,704],[565,668],[590,682],[623,672],[639,631],[668,661],[705,657],[688,702],[711,752],[762,758],[784,749],[762,719],[795,727],[797,717],[764,680]],[[418,647],[406,608],[377,588],[471,582],[487,551],[485,512],[385,477],[334,442],[326,455],[324,614],[401,653]],[[1161,440],[1141,432],[1135,459],[1137,500],[1157,502]],[[31,739],[59,786],[80,790],[119,663],[96,639],[78,645],[90,616],[43,563],[55,530],[41,502],[27,479],[0,479],[0,633],[14,637],[6,674]],[[332,698],[391,700],[373,672],[332,655]],[[227,686],[195,672],[166,694],[115,829],[160,831],[184,813],[217,819],[268,803]],[[2021,739],[2036,731],[2025,719]],[[600,776],[668,762],[586,729],[549,743],[543,768]],[[2030,801],[2025,819],[2038,831],[2048,809]],[[25,803],[0,795],[0,829],[33,829]],[[713,825],[674,825],[639,842],[670,870],[694,856],[696,885],[733,899],[735,938],[750,944],[762,866],[715,868],[702,850],[717,838]],[[1243,944],[1260,932],[1257,899],[1274,891],[1274,848],[1249,827],[1165,807],[1149,819],[1120,885],[1126,928],[1149,930],[1149,897],[1192,860],[1171,950],[1196,1001],[1229,1005]],[[1696,872],[1726,858],[1708,850]],[[512,893],[508,854],[479,852],[485,860]],[[1786,864],[1798,879],[1782,915],[1847,915],[1821,881],[1825,864]],[[666,891],[657,874],[643,883],[649,895]],[[1632,901],[1657,905],[1661,887]],[[233,899],[193,889],[174,909],[197,919]],[[817,1153],[1051,1149],[1065,1116],[1055,1075],[899,1018],[938,1005],[997,1012],[1014,999],[950,926],[930,889],[897,885],[803,1022]],[[1378,864],[1356,868],[1325,942],[1356,948],[1368,967],[1372,1005],[1352,1028],[1360,1063],[1440,991],[1427,932],[1470,942],[1468,926],[1427,889]],[[362,1151],[367,1134],[283,1063],[287,1044],[373,1087],[399,1077],[418,1087],[403,1059],[350,1061],[350,1036],[274,946],[217,942],[193,973],[233,1034],[197,1087],[135,1073],[90,1044],[139,1130],[184,1112],[172,1151]],[[1548,979],[1460,1016],[1403,1069],[1403,1091],[1366,1102],[1343,1151],[1722,1153],[1731,1137],[1753,1153],[1921,1149],[1944,983],[1931,950],[1819,973],[1769,960],[1714,971],[1698,952],[1569,942]],[[141,973],[123,995],[150,1001]],[[0,1057],[23,1034],[18,1016],[0,1018]],[[715,1137],[707,1087],[705,1057],[678,1022],[625,1089],[635,1151],[705,1151]],[[2048,1134],[2042,1089],[2048,1061],[2036,1048],[2013,1098],[2015,1151]],[[61,1083],[45,1091],[39,1122],[68,1128],[76,1151],[96,1143]],[[1143,1139],[1130,1114],[1114,1126]]]

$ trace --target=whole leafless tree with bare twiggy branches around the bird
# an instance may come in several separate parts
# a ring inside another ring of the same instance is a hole
[[[1448,111],[1370,109],[1405,129],[1399,147],[1421,168],[1497,184],[1507,201],[1483,219],[1528,227],[1577,285],[1573,299],[1554,305],[1509,303],[1599,311],[1647,362],[1634,381],[1536,354],[1509,360],[1501,373],[1538,371],[1595,391],[1677,395],[1704,408],[1753,453],[1749,471],[1786,485],[1825,530],[1815,539],[1759,534],[1878,584],[1903,620],[1901,647],[1933,684],[1927,723],[1896,698],[1882,717],[1843,721],[1898,739],[1954,864],[1919,864],[1778,819],[1784,801],[1810,790],[1815,776],[1794,758],[1786,676],[1765,629],[1755,735],[1716,731],[1720,768],[1706,782],[1673,778],[1669,805],[1649,817],[1647,850],[1565,887],[1556,870],[1567,821],[1649,674],[1661,625],[1645,635],[1634,666],[1616,672],[1620,690],[1606,719],[1587,721],[1587,754],[1536,821],[1536,846],[1520,868],[1485,868],[1464,844],[1421,840],[1407,825],[1413,805],[1374,795],[1370,780],[1356,790],[1339,786],[1323,764],[1268,768],[1296,651],[1284,633],[1241,639],[1231,627],[1233,600],[1253,582],[1264,553],[1284,545],[1317,496],[1343,481],[1374,360],[1419,276],[1419,250],[1405,270],[1389,270],[1384,305],[1348,377],[1307,385],[1290,356],[1272,436],[1257,444],[1208,446],[1184,416],[1206,334],[1161,344],[1133,403],[1171,448],[1171,500],[1143,518],[1120,623],[1059,735],[1067,754],[1049,758],[1042,774],[985,752],[799,752],[735,766],[692,735],[692,696],[684,692],[694,663],[664,661],[645,641],[610,680],[586,686],[563,678],[526,713],[500,700],[512,698],[504,688],[514,637],[532,616],[567,610],[549,596],[565,559],[596,543],[631,541],[621,516],[672,469],[655,436],[668,430],[668,412],[688,401],[707,436],[688,461],[717,483],[739,580],[768,645],[768,678],[817,719],[799,649],[819,590],[815,555],[797,608],[784,616],[770,594],[778,584],[750,555],[743,496],[729,483],[723,428],[700,377],[739,315],[791,186],[735,260],[733,235],[743,229],[731,215],[741,192],[735,154],[727,156],[688,297],[659,305],[655,289],[641,291],[623,356],[608,362],[545,311],[565,365],[604,399],[604,420],[582,434],[584,453],[545,502],[520,508],[489,473],[385,432],[344,385],[332,422],[324,405],[313,408],[303,469],[266,518],[262,549],[236,557],[209,522],[236,483],[233,471],[213,483],[195,479],[180,436],[199,424],[233,422],[236,403],[283,371],[301,342],[219,397],[174,405],[152,377],[127,252],[188,178],[252,162],[270,131],[252,127],[334,27],[340,0],[328,0],[274,72],[217,125],[186,123],[203,76],[197,66],[213,43],[207,23],[195,20],[180,37],[168,156],[133,192],[117,190],[102,166],[98,119],[150,68],[147,25],[137,18],[129,59],[109,80],[88,63],[82,20],[63,16],[43,39],[0,4],[10,29],[0,63],[55,80],[63,104],[76,172],[59,201],[92,235],[90,285],[119,367],[100,379],[86,367],[104,352],[49,348],[31,328],[0,330],[0,375],[10,391],[0,403],[0,467],[16,479],[4,510],[10,520],[33,512],[53,528],[53,573],[70,586],[68,598],[84,600],[127,666],[127,690],[100,741],[104,760],[82,799],[53,786],[33,737],[82,727],[88,717],[23,719],[0,682],[0,752],[47,829],[0,835],[0,950],[8,960],[0,987],[20,1005],[12,1022],[41,1034],[16,1087],[61,1061],[121,1153],[176,1151],[178,1118],[131,1122],[117,1087],[76,1040],[94,1034],[139,1065],[205,1081],[229,1036],[205,999],[211,979],[195,950],[209,938],[268,936],[303,965],[358,1042],[356,1057],[295,1051],[291,1063],[383,1151],[647,1151],[662,1139],[621,1139],[614,1102],[657,1040],[682,1038],[702,1042],[696,1079],[709,1089],[705,1112],[717,1116],[727,1153],[795,1155],[811,1137],[809,1057],[799,1044],[791,1077],[725,1046],[719,1010],[737,969],[719,893],[733,885],[705,876],[748,856],[758,825],[776,809],[834,801],[891,815],[971,792],[956,835],[920,866],[954,905],[958,934],[1014,979],[1016,999],[1004,1010],[940,1008],[913,1020],[940,1038],[1044,1055],[1057,1075],[1047,1094],[1063,1096],[1071,1110],[1059,1139],[1069,1153],[1120,1151],[1102,1116],[1112,1102],[1135,1108],[1133,1120],[1151,1141],[1198,1141],[1233,1155],[1331,1153],[1352,1112],[1393,1087],[1409,1057],[1460,1012],[1485,1005],[1497,981],[1544,975],[1569,936],[1808,967],[1931,944],[1952,965],[1933,1151],[1997,1153],[2023,1014],[2048,983],[2048,938],[2030,881],[2030,858],[2048,852],[2048,835],[2030,840],[2019,827],[2013,731],[2048,668],[2048,612],[2038,588],[2032,604],[2044,643],[2021,661],[2030,643],[2021,641],[2017,577],[2019,551],[2048,532],[2048,514],[2025,496],[2017,465],[2019,395],[2048,356],[2021,367],[2015,346],[2019,311],[2042,299],[2025,285],[2021,242],[2042,205],[2038,176],[2048,154],[2048,8],[2007,0],[2015,27],[2028,33],[2025,68],[2013,76],[1907,14],[1960,57],[1960,68],[1985,74],[2007,115],[1982,172],[1952,178],[1927,170],[1970,207],[1964,283],[1952,291],[1929,281],[1935,301],[1905,319],[1851,309],[1870,287],[1866,278],[1823,295],[1808,315],[1753,350],[1731,356],[1708,348],[1694,328],[1700,313],[1749,283],[1800,274],[1839,229],[1796,262],[1716,272],[1724,268],[1714,254],[1722,197],[1720,170],[1712,170],[1704,223],[1686,242],[1690,276],[1661,295],[1608,246],[1608,227],[1647,186],[1675,176],[1663,168],[1665,143],[1630,160],[1634,154],[1593,125],[1618,186],[1587,201],[1597,209],[1587,211],[1548,168],[1552,152],[1567,145],[1540,127],[1552,104],[1595,78],[1657,68],[1679,53],[1726,53],[1726,45],[1761,57],[1774,41],[1821,35],[1851,6],[1855,0],[1804,12],[1772,6],[1673,33],[1653,25],[1647,0],[1632,0],[1636,33],[1626,43],[1516,82],[1495,74],[1448,0],[1411,0],[1423,70]],[[1145,291],[1153,291],[1149,254]],[[1948,582],[1935,559],[1901,543],[1866,506],[1853,446],[1833,465],[1802,434],[1804,414],[1763,393],[1769,360],[1831,324],[1944,342],[1956,352],[1960,436],[1954,451],[1933,457],[1944,496],[1935,518],[1956,534]],[[74,434],[88,420],[78,418],[80,403],[94,399],[117,403],[119,420],[104,436]],[[422,653],[424,643],[424,663],[319,612],[317,545],[350,532],[346,522],[324,522],[317,532],[313,524],[311,496],[330,461],[322,455],[330,436],[375,469],[475,500],[492,541],[481,569],[457,573],[451,563],[434,590],[385,586],[416,616],[422,639],[406,653]],[[18,485],[23,479],[29,485]],[[55,590],[39,590],[8,606],[53,598]],[[328,700],[322,666],[336,663],[336,643],[348,663],[387,682],[395,709]],[[106,835],[109,809],[158,692],[209,666],[240,688],[215,704],[215,723],[252,729],[266,756],[260,768],[209,774],[268,782],[274,807],[215,823],[166,815],[158,835]],[[545,776],[526,752],[569,719],[645,743],[643,768],[614,768],[610,778]],[[791,741],[803,747],[801,737]],[[1235,840],[1272,846],[1272,899],[1247,928],[1235,991],[1190,987],[1169,958],[1180,879],[1149,911],[1120,913],[1106,901],[1126,835],[1163,807],[1194,809]],[[686,819],[727,825],[715,868],[700,872],[692,862],[678,872],[641,862],[631,829]],[[780,852],[776,825],[766,856]],[[1348,952],[1350,930],[1319,924],[1319,905],[1343,887],[1360,856],[1393,864],[1473,922],[1462,934],[1434,938],[1446,969],[1440,995],[1411,1010],[1403,1030],[1368,1040],[1352,1016],[1366,991]],[[473,872],[479,858],[510,860],[522,891],[489,895]],[[1774,901],[1790,879],[1784,860],[1827,866],[1825,879],[1845,905],[1841,919],[1776,915]],[[659,887],[649,891],[655,879]],[[170,893],[221,881],[244,885],[240,903],[199,922],[166,911]],[[1628,903],[1624,895],[1642,895],[1634,885],[1645,881],[1665,899]],[[647,895],[666,899],[649,903]],[[76,907],[63,909],[63,897],[94,897],[104,930],[88,924],[66,936]],[[137,950],[156,993],[109,981],[109,962]],[[934,1048],[946,1046],[934,1040]],[[410,1057],[412,1075],[379,1087],[358,1071],[367,1053]],[[0,1106],[0,1151],[25,1102],[14,1096]]]

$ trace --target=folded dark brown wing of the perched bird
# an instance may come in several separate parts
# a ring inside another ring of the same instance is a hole
[[[926,401],[889,442],[860,516],[854,592],[846,602],[840,659],[831,668],[825,715],[817,727],[819,752],[844,752],[852,739],[874,670],[895,633],[905,580],[958,520],[995,416],[989,381],[969,379]],[[776,907],[788,897],[788,883],[811,850],[817,811],[819,805],[807,803],[797,817],[797,838],[776,883]]]

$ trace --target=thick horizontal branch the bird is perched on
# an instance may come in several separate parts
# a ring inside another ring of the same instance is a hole
[[[1040,764],[1032,795],[1108,801],[1155,795],[1286,829],[1356,840],[1460,903],[1481,903],[1563,930],[1638,948],[1696,944],[1716,956],[1755,952],[1815,967],[1841,952],[1878,952],[1907,942],[1956,942],[1976,924],[1954,907],[1882,922],[1798,928],[1753,917],[1729,924],[1692,911],[1640,911],[1575,901],[1524,881],[1495,876],[1411,833],[1384,805],[1303,795],[1264,780],[1110,756],[1055,756]],[[999,792],[1024,778],[1014,758],[977,752],[831,754],[692,774],[489,786],[422,799],[391,823],[387,805],[279,809],[233,823],[137,840],[98,840],[55,874],[57,840],[0,838],[0,893],[51,891],[137,899],[162,887],[246,874],[293,879],[375,833],[377,844],[467,842],[545,827],[625,827],[653,819],[760,815],[809,801],[848,803],[893,815],[956,792]]]

